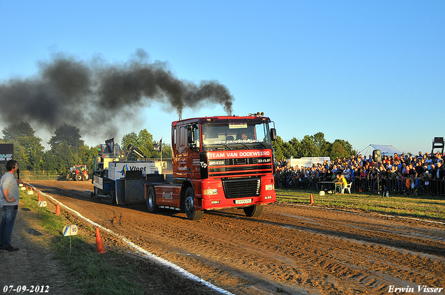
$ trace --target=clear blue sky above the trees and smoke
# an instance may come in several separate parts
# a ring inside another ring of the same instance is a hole
[[[286,141],[323,132],[357,151],[392,144],[417,153],[445,137],[442,0],[1,0],[0,13],[0,83],[33,77],[54,53],[119,63],[143,49],[177,78],[219,81],[235,115],[265,112]],[[170,142],[175,112],[158,103],[134,112],[118,142],[143,128]],[[225,112],[202,106],[182,117],[206,115]],[[44,142],[52,135],[33,128]]]

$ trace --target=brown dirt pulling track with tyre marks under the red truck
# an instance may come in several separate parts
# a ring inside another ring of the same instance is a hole
[[[91,183],[33,182],[45,194],[145,250],[234,294],[387,294],[445,288],[445,224],[275,203],[261,217],[200,221],[145,205],[91,199]],[[106,246],[124,247],[105,237]],[[445,294],[442,289],[442,294]]]

